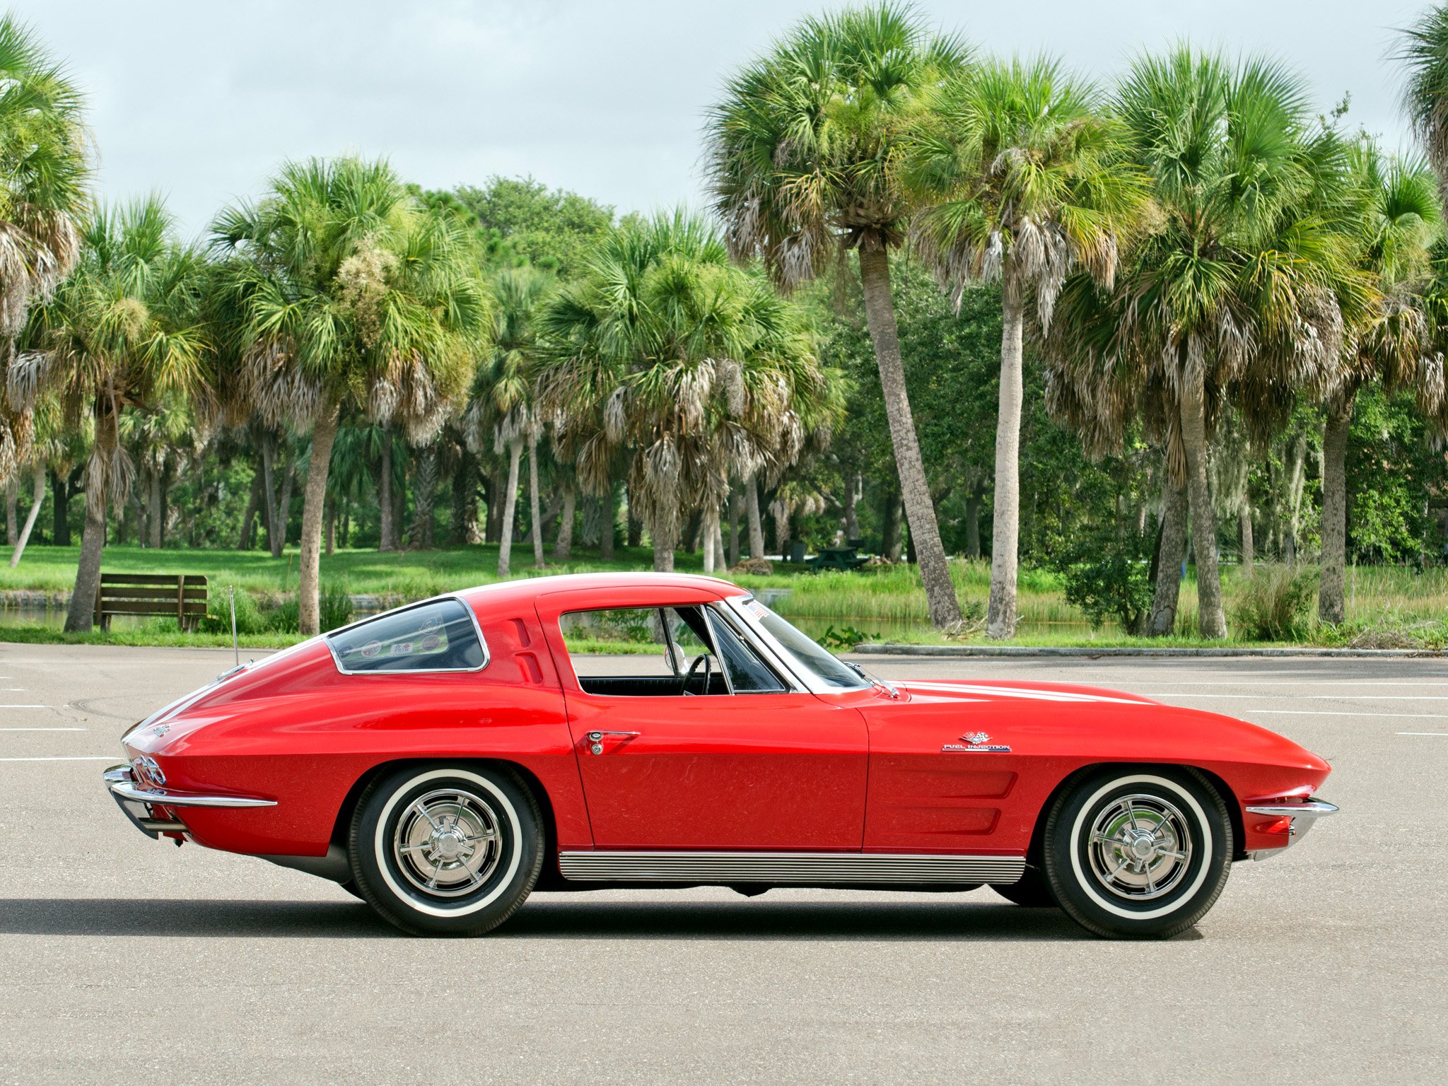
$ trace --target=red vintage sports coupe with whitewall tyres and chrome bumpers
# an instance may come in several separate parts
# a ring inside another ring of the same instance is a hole
[[[724,581],[553,576],[403,607],[223,673],[106,772],[151,837],[476,935],[534,889],[969,891],[1099,935],[1195,924],[1337,808],[1229,717],[876,679]]]

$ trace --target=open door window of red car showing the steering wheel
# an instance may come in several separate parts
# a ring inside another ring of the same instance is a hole
[[[559,633],[573,673],[589,694],[728,694],[708,620],[698,607],[569,611],[559,615]]]

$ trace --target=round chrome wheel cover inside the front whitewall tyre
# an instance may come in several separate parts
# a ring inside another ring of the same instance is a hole
[[[1151,901],[1174,891],[1192,866],[1192,828],[1182,811],[1161,796],[1142,794],[1105,804],[1086,841],[1092,876],[1127,901]]]

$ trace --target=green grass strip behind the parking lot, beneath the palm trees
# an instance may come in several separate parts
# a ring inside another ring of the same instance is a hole
[[[78,547],[32,546],[16,569],[0,566],[0,591],[30,589],[68,592],[75,578]],[[456,591],[497,581],[497,547],[472,546],[426,552],[378,553],[375,550],[339,550],[321,557],[326,588],[356,595],[376,595],[387,605],[418,599],[437,592]],[[517,576],[578,573],[594,571],[641,571],[652,566],[652,552],[644,547],[620,549],[613,562],[582,552],[563,565],[534,569],[531,552],[514,547]],[[681,572],[698,572],[696,555],[679,553]],[[989,595],[988,562],[951,562],[957,595],[967,611],[983,613]],[[294,597],[297,589],[297,553],[279,559],[265,552],[235,550],[146,550],[133,546],[106,549],[104,569],[135,573],[204,573],[213,594],[235,585],[264,607],[275,607]],[[946,643],[928,624],[925,592],[918,569],[912,566],[864,568],[856,572],[804,572],[798,568],[776,571],[770,576],[740,575],[737,584],[756,592],[769,592],[780,614],[798,621],[808,633],[820,634],[830,624],[854,627],[870,640],[933,644]],[[1228,610],[1237,591],[1237,571],[1224,569],[1224,594]],[[1368,644],[1380,647],[1438,647],[1448,644],[1448,569],[1415,571],[1397,566],[1364,566],[1348,571],[1348,617],[1342,627],[1315,627],[1306,644]],[[1196,627],[1196,581],[1189,571],[1182,584],[1177,630]],[[1018,637],[1009,644],[1082,644],[1115,647],[1131,644],[1208,646],[1248,644],[1242,640],[1205,641],[1192,636],[1174,639],[1132,639],[1115,627],[1092,628],[1086,617],[1066,602],[1057,576],[1044,569],[1021,571],[1018,589]],[[68,636],[75,643],[94,640],[109,644],[230,644],[230,636],[181,634],[174,623],[155,620],[139,628],[116,628],[110,634]],[[0,639],[14,641],[61,640],[55,631],[4,621],[0,611]],[[290,634],[251,634],[243,644],[261,647],[288,644]]]

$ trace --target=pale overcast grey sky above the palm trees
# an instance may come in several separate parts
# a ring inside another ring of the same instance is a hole
[[[107,198],[187,232],[284,158],[387,155],[426,187],[531,174],[620,211],[699,203],[699,126],[736,67],[820,0],[20,0],[90,97]],[[1099,77],[1176,38],[1267,51],[1403,142],[1400,0],[927,0],[996,52]]]

